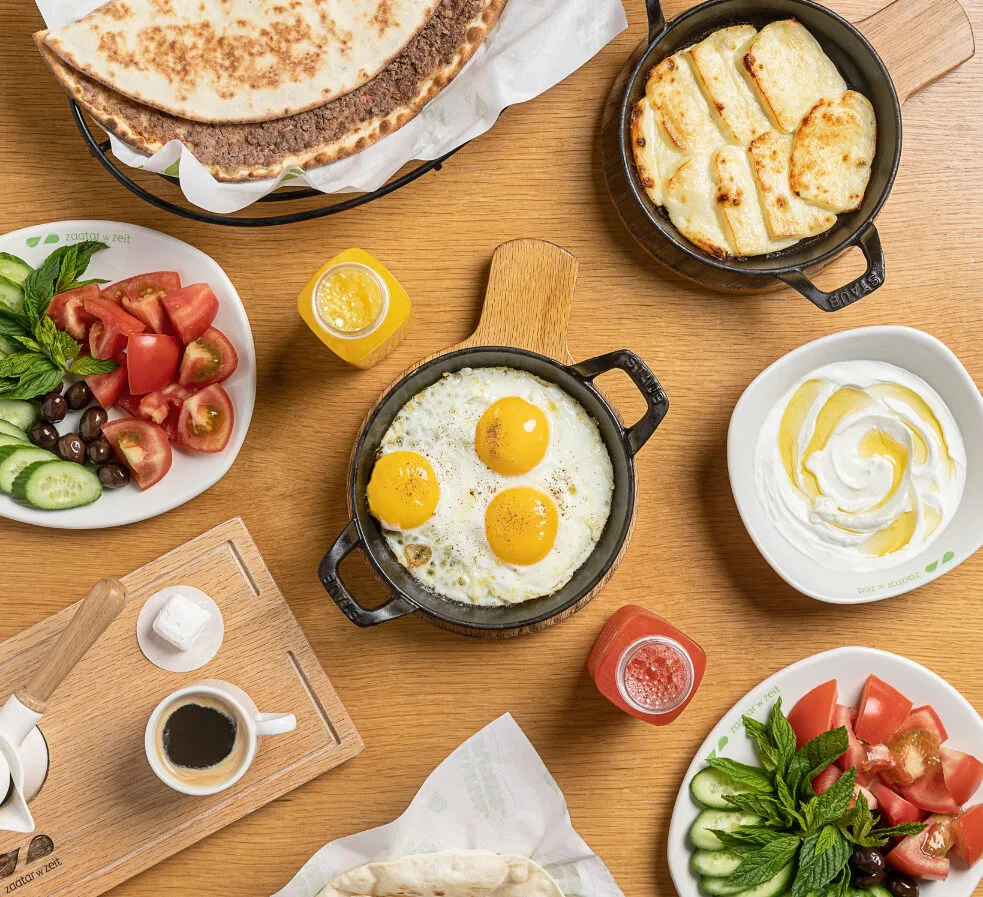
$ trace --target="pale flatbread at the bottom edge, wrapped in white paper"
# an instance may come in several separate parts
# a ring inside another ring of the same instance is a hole
[[[488,850],[421,853],[339,875],[317,897],[564,897],[526,857]]]

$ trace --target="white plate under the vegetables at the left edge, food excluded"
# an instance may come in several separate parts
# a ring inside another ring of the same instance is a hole
[[[39,224],[0,237],[0,252],[10,252],[29,265],[40,265],[59,246],[81,240],[102,240],[108,249],[92,257],[85,277],[123,280],[149,271],[177,271],[182,284],[205,282],[218,296],[215,326],[231,341],[239,356],[239,367],[222,386],[235,407],[235,428],[225,451],[214,455],[195,454],[174,448],[174,462],[159,483],[141,492],[135,483],[122,489],[106,489],[102,498],[70,511],[40,511],[17,504],[0,495],[0,516],[58,529],[101,529],[123,526],[156,517],[201,495],[215,485],[235,461],[242,448],[256,401],[256,350],[249,319],[232,281],[218,263],[181,240],[135,224],[118,221],[58,221]],[[119,409],[110,418],[123,417]],[[60,433],[71,432],[66,422],[57,424]]]

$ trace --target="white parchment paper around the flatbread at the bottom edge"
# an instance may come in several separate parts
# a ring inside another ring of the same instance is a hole
[[[315,897],[374,860],[462,848],[530,857],[567,897],[624,897],[574,830],[559,786],[510,714],[444,760],[402,816],[322,847],[274,897]]]

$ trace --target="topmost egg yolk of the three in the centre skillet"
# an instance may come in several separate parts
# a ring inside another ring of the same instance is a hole
[[[474,434],[478,457],[495,471],[515,476],[532,470],[546,454],[546,415],[531,402],[507,396],[488,407]]]

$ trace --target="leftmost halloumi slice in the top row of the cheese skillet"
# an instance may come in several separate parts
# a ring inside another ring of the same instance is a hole
[[[655,66],[649,73],[645,95],[661,114],[672,145],[687,156],[709,154],[726,141],[700,90],[688,56],[683,50]]]

